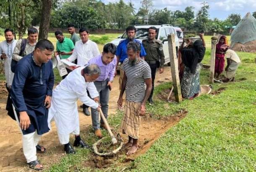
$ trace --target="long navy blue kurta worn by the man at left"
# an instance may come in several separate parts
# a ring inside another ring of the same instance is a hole
[[[31,125],[22,130],[29,134],[37,130],[41,135],[49,131],[47,124],[48,109],[44,106],[46,96],[52,96],[54,74],[52,61],[37,66],[32,58],[33,53],[22,58],[16,66],[10,96],[19,112],[26,111]]]

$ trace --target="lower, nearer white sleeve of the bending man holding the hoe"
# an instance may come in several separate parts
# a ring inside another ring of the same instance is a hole
[[[95,88],[96,89],[96,88]],[[97,92],[98,93],[98,92]],[[94,100],[90,99],[89,96],[87,95],[86,89],[84,87],[77,87],[76,89],[76,94],[78,98],[87,106],[90,106],[94,109],[97,109],[99,104],[96,103]],[[99,95],[99,94],[98,94]]]

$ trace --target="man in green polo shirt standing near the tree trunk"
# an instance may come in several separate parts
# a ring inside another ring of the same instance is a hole
[[[60,59],[66,59],[71,56],[73,49],[75,48],[73,42],[69,38],[65,38],[63,33],[60,30],[55,31],[55,37],[58,40],[56,43],[56,55],[60,56]]]

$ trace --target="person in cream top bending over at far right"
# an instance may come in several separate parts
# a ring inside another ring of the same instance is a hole
[[[235,51],[228,49],[226,44],[221,46],[221,48],[222,51],[225,52],[225,56],[227,58],[227,66],[225,68],[226,78],[223,79],[222,82],[235,81],[235,71],[241,63],[240,58]]]

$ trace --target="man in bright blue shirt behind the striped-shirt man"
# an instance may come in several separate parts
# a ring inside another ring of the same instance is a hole
[[[127,34],[127,39],[120,41],[120,43],[118,44],[117,51],[115,53],[115,55],[117,57],[116,69],[118,67],[118,63],[120,62],[123,65],[123,61],[128,57],[127,44],[131,41],[138,42],[141,45],[140,57],[142,59],[144,59],[144,57],[146,56],[146,51],[145,51],[141,41],[134,39],[135,34],[136,34],[136,28],[134,26],[128,26],[126,28],[126,34]],[[123,73],[124,73],[123,70],[120,68],[120,77],[119,77],[119,90],[120,91],[121,91],[121,87],[122,87]]]

